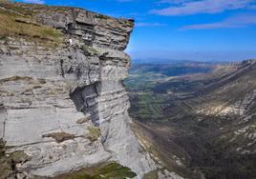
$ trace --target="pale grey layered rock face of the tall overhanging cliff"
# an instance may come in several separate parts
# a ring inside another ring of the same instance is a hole
[[[63,31],[66,42],[44,47],[22,38],[0,40],[0,138],[7,152],[30,156],[16,168],[27,177],[53,176],[114,160],[139,178],[155,169],[129,127],[122,85],[133,21],[80,9],[16,6],[34,12],[37,23]]]

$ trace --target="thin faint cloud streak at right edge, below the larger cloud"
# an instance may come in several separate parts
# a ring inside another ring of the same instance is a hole
[[[227,18],[222,22],[209,24],[195,24],[182,27],[181,30],[210,30],[224,28],[246,28],[251,25],[256,25],[256,15],[246,14]]]

